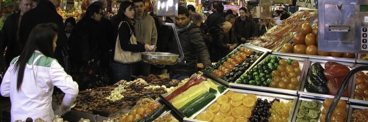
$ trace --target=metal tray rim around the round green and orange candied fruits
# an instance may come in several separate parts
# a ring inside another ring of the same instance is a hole
[[[293,59],[293,60],[296,60],[296,61],[299,62],[299,68],[301,69],[301,75],[298,78],[299,85],[297,86],[297,89],[296,90],[279,89],[279,88],[271,88],[271,87],[265,87],[265,86],[254,86],[254,85],[246,85],[246,84],[237,84],[237,83],[230,83],[229,84],[230,88],[238,88],[238,89],[245,89],[245,90],[258,90],[258,91],[268,92],[268,93],[281,93],[281,94],[287,94],[287,95],[297,96],[298,90],[300,89],[300,86],[301,86],[301,81],[303,80],[303,75],[304,75],[305,66],[307,64],[307,59],[304,59],[304,58],[295,58],[295,57],[289,57],[289,56],[280,56],[280,55],[276,55],[276,56],[277,57],[281,57],[284,60],[290,58],[290,59]],[[267,57],[270,57],[270,55],[268,55]],[[262,63],[264,61],[265,61],[265,59],[263,59],[259,63]],[[246,74],[247,72],[248,72],[248,70],[245,71],[244,74]],[[238,80],[239,79],[240,78],[238,78]]]

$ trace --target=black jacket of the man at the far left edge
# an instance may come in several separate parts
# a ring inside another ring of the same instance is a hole
[[[15,36],[17,34],[18,21],[20,11],[11,14],[6,19],[3,29],[3,36],[0,40],[0,50],[1,54],[3,54],[5,48],[7,47],[7,51],[5,54],[5,62],[8,66],[11,60],[17,56],[19,56],[22,52],[22,48],[20,47],[20,41],[15,41]]]

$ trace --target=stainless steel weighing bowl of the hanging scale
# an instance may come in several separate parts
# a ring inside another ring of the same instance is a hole
[[[174,65],[178,62],[179,55],[166,52],[142,52],[142,60],[153,65]]]

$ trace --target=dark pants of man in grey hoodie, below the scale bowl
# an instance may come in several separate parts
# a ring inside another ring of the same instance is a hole
[[[151,64],[140,61],[132,64],[132,75],[138,77],[139,75],[148,76],[150,74]]]

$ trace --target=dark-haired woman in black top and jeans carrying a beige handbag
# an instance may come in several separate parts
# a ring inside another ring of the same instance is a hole
[[[130,44],[130,37],[134,32],[133,19],[134,19],[134,4],[130,1],[122,2],[120,4],[120,8],[117,12],[117,15],[113,16],[112,18],[114,26],[114,35],[119,36],[121,49],[123,51],[131,51],[131,52],[153,51],[153,49],[148,44],[140,44],[140,43]],[[115,52],[114,47],[112,52]],[[115,62],[114,59],[112,59],[112,69],[114,72],[114,82],[120,80],[126,81],[131,80],[132,75],[131,64],[118,63]]]

